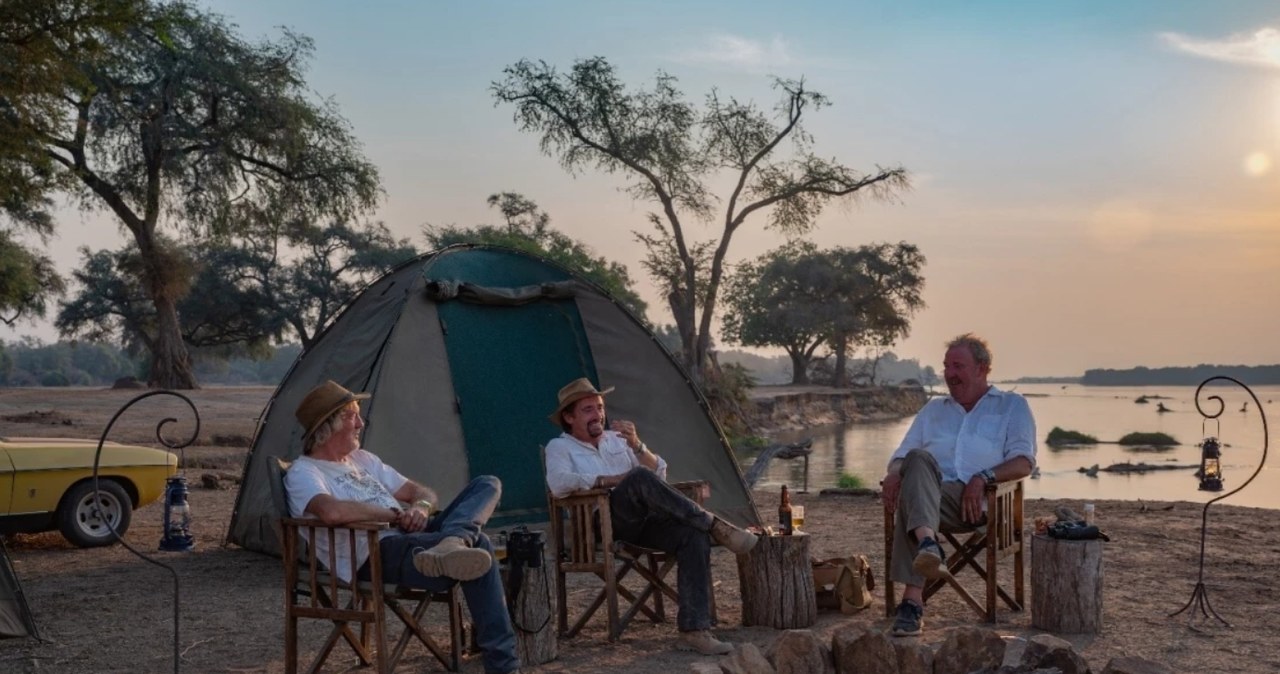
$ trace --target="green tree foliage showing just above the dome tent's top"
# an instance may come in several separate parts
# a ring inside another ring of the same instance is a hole
[[[605,260],[595,255],[589,246],[552,228],[550,215],[524,194],[500,192],[490,194],[488,201],[492,208],[502,214],[504,226],[426,226],[422,229],[422,235],[426,237],[428,244],[431,248],[443,248],[454,243],[489,243],[545,257],[604,288],[640,321],[649,324],[645,315],[648,304],[635,292],[626,265]]]

